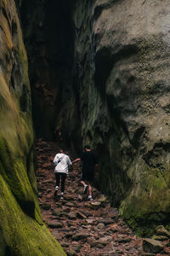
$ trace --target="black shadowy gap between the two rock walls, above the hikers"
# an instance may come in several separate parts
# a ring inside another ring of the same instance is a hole
[[[54,139],[57,117],[63,107],[62,94],[72,83],[73,2],[25,0],[20,6],[37,138]]]

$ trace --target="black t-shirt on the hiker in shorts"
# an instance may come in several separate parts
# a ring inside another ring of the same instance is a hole
[[[92,151],[82,152],[82,172],[93,172],[94,166],[98,164],[95,154]]]

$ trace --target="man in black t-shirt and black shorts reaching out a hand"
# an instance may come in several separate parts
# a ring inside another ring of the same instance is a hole
[[[81,157],[73,160],[72,163],[76,163],[80,160],[82,160],[82,176],[80,183],[84,186],[84,193],[86,193],[88,189],[88,200],[93,201],[91,183],[94,181],[95,167],[98,166],[98,162],[90,146],[85,146]]]

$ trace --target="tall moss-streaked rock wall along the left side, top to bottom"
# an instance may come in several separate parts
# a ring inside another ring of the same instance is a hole
[[[0,2],[0,255],[65,255],[37,202],[26,49],[13,0]]]

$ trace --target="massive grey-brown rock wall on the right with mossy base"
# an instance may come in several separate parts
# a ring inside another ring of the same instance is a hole
[[[74,13],[83,143],[101,188],[143,230],[170,211],[168,13],[158,0],[77,1]]]

